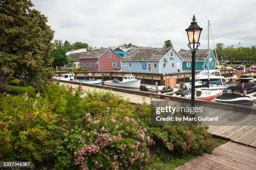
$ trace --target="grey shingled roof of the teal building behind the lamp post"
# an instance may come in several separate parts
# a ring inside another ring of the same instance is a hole
[[[184,59],[184,61],[192,61],[191,50],[179,51],[179,55]],[[196,61],[205,61],[208,56],[208,50],[197,50]]]

